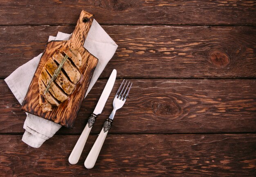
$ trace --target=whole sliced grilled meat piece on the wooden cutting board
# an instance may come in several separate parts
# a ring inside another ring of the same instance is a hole
[[[50,83],[64,58],[63,55],[67,55],[68,58],[65,60],[61,70],[58,70],[60,72],[58,72],[54,81]],[[43,112],[52,111],[53,106],[59,106],[61,102],[69,98],[69,95],[75,90],[76,84],[81,78],[81,73],[79,72],[81,65],[82,57],[76,49],[63,49],[62,51],[55,52],[49,58],[38,79],[39,104]],[[48,84],[49,91],[45,92]]]

